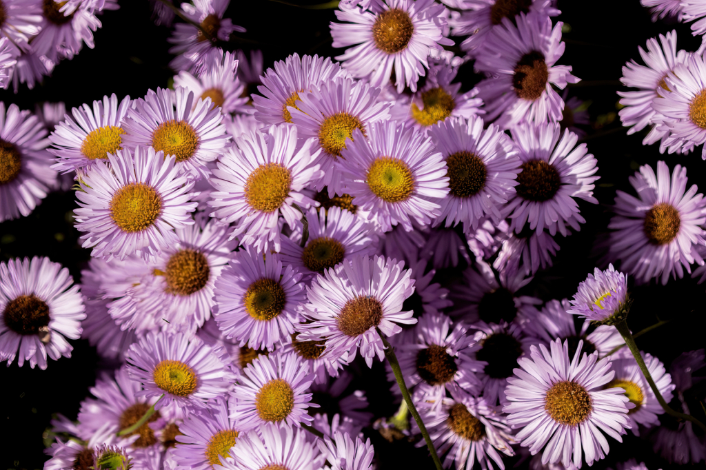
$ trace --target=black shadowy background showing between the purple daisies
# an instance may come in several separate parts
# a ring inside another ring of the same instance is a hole
[[[319,3],[316,0],[292,2]],[[700,148],[692,155],[660,155],[656,145],[642,146],[645,132],[626,135],[616,116],[616,90],[623,89],[617,81],[622,76],[621,67],[630,59],[640,61],[638,46],[644,47],[649,37],[673,28],[678,32],[681,49],[697,49],[700,38],[691,36],[688,25],[652,23],[650,14],[638,0],[560,0],[558,7],[562,14],[555,20],[570,25],[570,32],[564,35],[566,52],[559,63],[573,66],[573,74],[583,80],[570,88],[570,95],[591,100],[591,120],[601,123],[587,128],[586,140],[590,152],[598,159],[601,179],[594,195],[600,204],[581,204],[587,224],[580,233],[567,239],[558,236],[561,251],[554,266],[540,272],[522,291],[544,300],[570,298],[587,272],[593,270],[596,263],[594,240],[606,231],[609,205],[614,201],[615,191],[618,188],[631,191],[628,176],[640,165],[654,167],[659,159],[664,159],[670,168],[676,163],[685,165],[689,182],[706,188],[706,162],[700,158]],[[335,20],[333,10],[306,10],[267,0],[235,0],[226,16],[248,30],[237,33],[241,40],[233,40],[229,48],[262,49],[265,67],[294,52],[323,56],[342,53],[331,47],[328,23]],[[72,61],[61,62],[53,75],[34,90],[22,85],[17,95],[12,90],[0,91],[0,100],[6,105],[16,103],[20,109],[32,110],[37,102],[64,101],[70,109],[113,92],[119,99],[124,95],[137,98],[145,95],[149,88],[168,85],[173,75],[168,67],[172,56],[167,53],[166,41],[170,30],[152,23],[148,1],[123,0],[119,11],[106,11],[100,20],[103,28],[95,33],[95,49],[84,47]],[[462,80],[462,90],[469,90],[479,80],[472,71],[472,64],[462,66],[458,78]],[[1,223],[0,260],[49,256],[68,267],[78,281],[90,254],[76,243],[78,233],[71,224],[74,207],[71,192],[52,193],[30,216]],[[669,365],[682,351],[704,347],[705,289],[694,279],[670,279],[666,287],[654,282],[634,287],[635,303],[629,322],[633,331],[652,325],[657,315],[663,320],[673,320],[641,337],[640,348]],[[88,342],[72,343],[72,357],[50,360],[47,370],[30,369],[27,364],[18,368],[16,362],[9,368],[0,368],[0,470],[41,469],[47,459],[42,452],[42,433],[49,426],[52,414],[76,418],[79,403],[95,382],[100,364],[95,349]],[[354,365],[353,370],[361,377],[357,387],[367,391],[370,409],[376,417],[392,415],[396,406],[387,392],[390,384],[385,380],[383,365],[376,363],[372,370]],[[703,420],[705,416],[699,408],[695,402],[691,407]],[[669,417],[663,415],[661,420],[666,426],[674,426]],[[389,444],[373,430],[366,430],[366,436],[375,445],[376,458],[381,464],[378,468],[433,468],[426,449],[414,449],[407,442]],[[628,435],[622,445],[610,438],[609,442],[608,457],[594,464],[594,468],[615,467],[616,462],[632,457],[646,462],[650,470],[672,467],[654,457],[647,440]],[[511,468],[515,462],[517,457],[505,459],[506,468]]]

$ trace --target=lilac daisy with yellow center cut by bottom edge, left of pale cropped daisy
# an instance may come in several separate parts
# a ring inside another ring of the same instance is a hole
[[[208,403],[208,414],[190,414],[179,424],[177,448],[172,452],[174,462],[193,470],[211,470],[223,462],[233,463],[230,449],[240,431],[238,423],[230,418],[226,399],[217,398]]]

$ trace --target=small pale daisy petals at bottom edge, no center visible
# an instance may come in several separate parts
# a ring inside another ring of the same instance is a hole
[[[355,442],[349,433],[336,431],[333,435],[318,441],[318,449],[325,457],[327,470],[371,470],[375,450],[370,439],[363,442],[356,437]]]

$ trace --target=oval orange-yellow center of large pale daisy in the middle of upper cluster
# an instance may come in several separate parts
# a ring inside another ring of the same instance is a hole
[[[292,188],[292,174],[279,163],[260,165],[245,181],[245,199],[250,207],[273,212],[285,203]]]

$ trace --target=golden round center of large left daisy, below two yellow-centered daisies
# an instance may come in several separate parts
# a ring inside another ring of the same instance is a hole
[[[162,198],[145,183],[130,183],[113,195],[110,216],[123,231],[143,231],[162,213]]]

